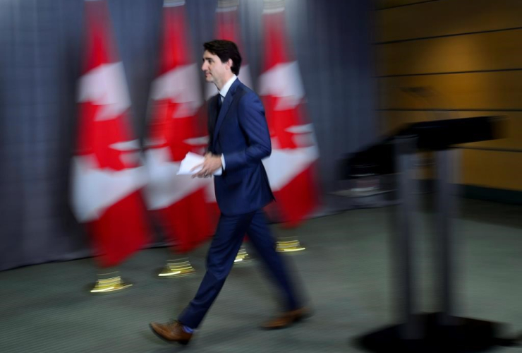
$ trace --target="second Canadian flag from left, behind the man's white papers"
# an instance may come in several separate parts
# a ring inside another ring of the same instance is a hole
[[[147,205],[159,215],[174,249],[190,251],[214,233],[206,203],[210,179],[176,175],[187,152],[205,153],[206,125],[198,64],[190,60],[185,1],[164,1],[159,76],[152,84],[150,135],[145,152]]]

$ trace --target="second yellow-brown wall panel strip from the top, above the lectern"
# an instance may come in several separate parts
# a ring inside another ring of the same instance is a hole
[[[522,29],[378,44],[375,67],[377,76],[522,68],[521,43]]]

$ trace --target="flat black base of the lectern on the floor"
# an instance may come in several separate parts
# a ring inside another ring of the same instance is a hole
[[[420,314],[417,318],[424,332],[420,340],[401,338],[403,325],[394,325],[358,337],[357,343],[379,353],[472,353],[485,352],[502,341],[497,336],[499,323],[454,318],[456,325],[440,325],[437,313]]]

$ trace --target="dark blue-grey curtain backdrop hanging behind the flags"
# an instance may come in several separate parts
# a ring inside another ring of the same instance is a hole
[[[162,0],[108,3],[133,126],[143,138]],[[377,138],[370,3],[286,0],[287,34],[315,124],[324,193],[339,185],[339,157]],[[217,0],[186,4],[198,62],[201,44],[213,39],[216,5]],[[89,239],[68,205],[83,6],[82,0],[0,1],[0,270],[90,255]],[[240,1],[244,54],[255,86],[265,50],[262,8],[261,0]]]

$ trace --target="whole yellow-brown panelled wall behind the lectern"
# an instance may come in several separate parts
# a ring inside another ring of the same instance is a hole
[[[401,5],[392,3],[377,6]],[[429,1],[374,13],[376,76],[397,76],[377,78],[383,136],[409,122],[505,115],[506,138],[459,146],[460,182],[522,191],[522,0]],[[431,172],[418,168],[420,178]]]

